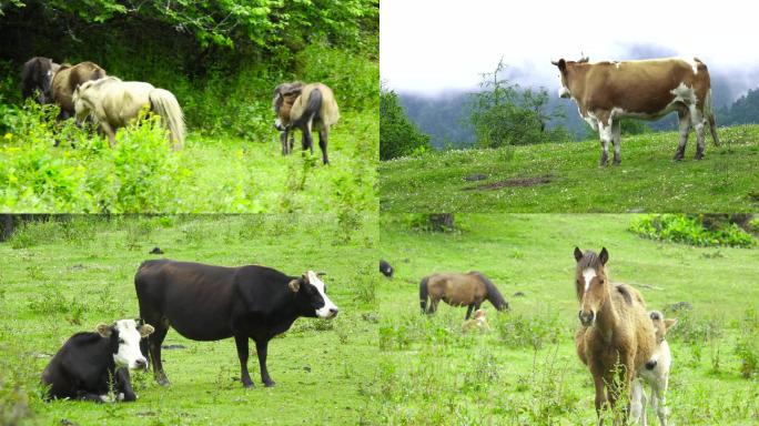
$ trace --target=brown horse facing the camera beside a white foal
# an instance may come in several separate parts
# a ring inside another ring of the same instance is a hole
[[[581,323],[575,344],[577,355],[593,374],[596,413],[601,424],[601,409],[615,406],[654,355],[656,333],[640,293],[629,285],[609,281],[605,267],[609,260],[606,247],[598,255],[575,247],[575,288]]]

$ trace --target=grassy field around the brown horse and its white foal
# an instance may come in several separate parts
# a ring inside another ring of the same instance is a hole
[[[649,308],[692,305],[668,312],[680,321],[669,338],[671,423],[756,424],[756,375],[741,377],[741,359],[750,356],[739,357],[736,348],[759,333],[759,251],[641,240],[626,231],[631,215],[456,220],[463,231],[431,234],[411,231],[405,216],[383,216],[380,252],[396,276],[378,292],[382,356],[370,394],[384,423],[594,424],[593,382],[574,347],[571,252],[579,245],[606,246],[610,278],[639,288]],[[470,270],[490,277],[512,306],[498,314],[483,305],[490,333],[462,334],[465,308],[441,303],[436,315],[419,314],[423,276]],[[753,316],[745,320],[750,310]],[[756,359],[759,349],[752,347]],[[658,424],[650,408],[648,416]]]

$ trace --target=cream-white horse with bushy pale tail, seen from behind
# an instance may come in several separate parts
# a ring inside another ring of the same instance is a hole
[[[140,110],[149,105],[161,116],[171,133],[173,149],[184,144],[184,118],[176,98],[163,89],[155,89],[142,81],[121,81],[115,77],[88,81],[73,93],[77,121],[92,115],[108,134],[111,146],[115,145],[115,132],[138,118]]]

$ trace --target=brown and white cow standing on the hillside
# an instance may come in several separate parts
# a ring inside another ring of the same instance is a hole
[[[696,160],[704,158],[704,130],[709,122],[715,145],[719,145],[711,108],[709,71],[694,58],[642,61],[589,62],[560,59],[551,62],[561,73],[560,98],[571,98],[580,115],[601,142],[600,165],[608,162],[614,142],[614,164],[619,164],[620,119],[657,120],[677,111],[680,144],[675,160],[682,160],[690,128],[696,128]]]

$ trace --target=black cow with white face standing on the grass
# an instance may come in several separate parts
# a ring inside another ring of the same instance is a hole
[[[161,365],[161,343],[174,327],[193,341],[234,337],[243,386],[247,373],[249,338],[255,341],[261,381],[274,386],[266,369],[269,341],[286,332],[301,316],[332,318],[337,306],[313,271],[289,276],[265,266],[224,267],[169,260],[146,261],[134,276],[140,315],[155,324],[150,359],[155,379],[168,385]]]

